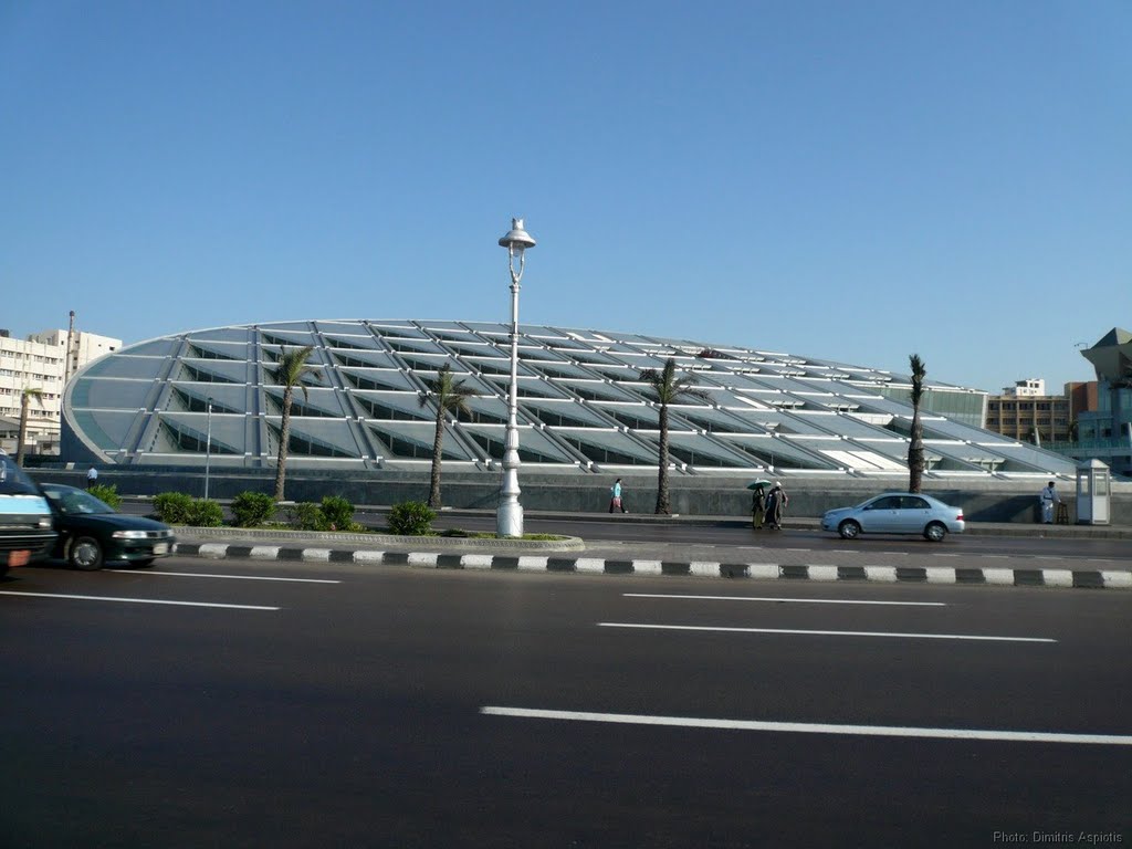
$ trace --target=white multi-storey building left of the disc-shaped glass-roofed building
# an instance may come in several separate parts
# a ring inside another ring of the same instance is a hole
[[[122,341],[95,333],[52,329],[12,338],[0,329],[0,418],[19,421],[25,389],[38,389],[27,410],[28,454],[58,454],[60,410],[67,379],[92,360],[115,351]],[[18,432],[0,428],[0,447],[15,454]]]

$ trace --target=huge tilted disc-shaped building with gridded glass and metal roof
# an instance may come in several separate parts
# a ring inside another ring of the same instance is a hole
[[[288,468],[424,471],[451,366],[474,392],[448,418],[445,471],[498,474],[511,383],[508,325],[309,320],[215,327],[139,342],[79,371],[63,400],[63,458],[213,469],[274,466],[286,349],[311,346],[295,391]],[[609,474],[655,469],[659,410],[644,369],[674,358],[702,395],[669,408],[675,473],[891,477],[907,473],[910,378],[840,362],[633,333],[521,325],[524,468]],[[423,398],[423,403],[422,403]],[[928,381],[927,477],[1074,473],[1073,462],[983,430],[986,394]],[[211,405],[211,412],[209,412]],[[206,445],[211,453],[206,454]]]

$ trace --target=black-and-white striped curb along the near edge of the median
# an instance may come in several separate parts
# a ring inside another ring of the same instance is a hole
[[[748,577],[763,581],[851,581],[911,584],[987,584],[998,586],[1075,586],[1132,589],[1132,572],[1091,569],[1004,569],[944,566],[787,566],[769,563],[711,560],[612,560],[592,557],[468,555],[406,551],[238,546],[224,542],[182,543],[181,556],[209,559],[357,563],[374,566],[419,566],[438,569],[499,569],[517,572],[576,572],[593,575],[680,575]]]

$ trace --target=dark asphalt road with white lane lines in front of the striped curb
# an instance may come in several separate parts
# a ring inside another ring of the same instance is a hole
[[[2,843],[1127,844],[1129,603],[23,568],[0,584]]]

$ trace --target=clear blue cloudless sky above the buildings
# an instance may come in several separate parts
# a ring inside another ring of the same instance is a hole
[[[521,319],[996,392],[1132,326],[1132,2],[0,0],[0,327]]]

